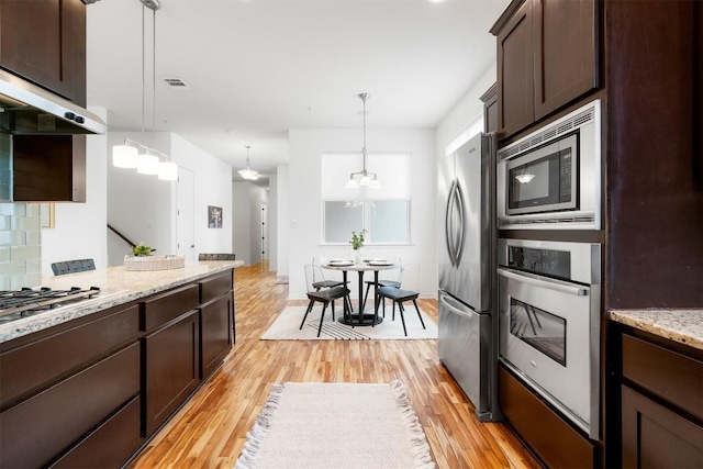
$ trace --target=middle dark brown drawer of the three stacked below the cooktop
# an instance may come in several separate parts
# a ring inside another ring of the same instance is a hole
[[[38,467],[140,392],[140,344],[0,414],[0,467]]]

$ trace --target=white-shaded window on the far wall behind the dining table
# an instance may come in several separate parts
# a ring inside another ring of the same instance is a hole
[[[369,154],[367,168],[381,189],[345,187],[361,154],[322,155],[323,243],[347,244],[366,230],[366,244],[410,243],[410,154]]]

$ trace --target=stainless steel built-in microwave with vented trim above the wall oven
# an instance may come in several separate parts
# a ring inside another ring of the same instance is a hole
[[[600,100],[498,150],[499,228],[601,228]]]

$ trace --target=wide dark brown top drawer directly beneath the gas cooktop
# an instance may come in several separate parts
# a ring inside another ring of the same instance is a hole
[[[101,355],[136,340],[138,308],[115,310],[113,314],[0,354],[2,407],[82,364],[96,361]]]

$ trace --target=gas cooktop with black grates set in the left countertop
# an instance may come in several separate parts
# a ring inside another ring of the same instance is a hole
[[[100,294],[98,287],[70,290],[51,288],[23,288],[22,290],[0,291],[0,323],[15,321],[60,306],[72,305]]]

